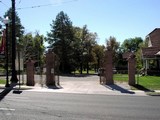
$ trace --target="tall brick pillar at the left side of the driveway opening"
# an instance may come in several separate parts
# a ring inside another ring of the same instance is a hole
[[[55,54],[52,52],[51,49],[49,49],[48,53],[46,54],[46,85],[55,86],[54,60],[55,60]]]

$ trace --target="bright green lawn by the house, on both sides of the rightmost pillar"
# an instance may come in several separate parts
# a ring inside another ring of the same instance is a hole
[[[151,90],[160,90],[160,76],[139,76],[136,77],[136,83],[144,88]],[[127,74],[114,74],[113,79],[118,82],[128,82]]]

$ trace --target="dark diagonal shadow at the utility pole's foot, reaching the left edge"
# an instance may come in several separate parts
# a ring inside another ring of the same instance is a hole
[[[11,84],[10,87],[4,88],[4,90],[0,93],[0,101],[4,99],[4,97],[16,86],[16,84]]]

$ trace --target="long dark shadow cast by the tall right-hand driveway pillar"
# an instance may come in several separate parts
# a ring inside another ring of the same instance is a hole
[[[122,88],[121,86],[118,86],[116,84],[114,85],[104,85],[104,87],[110,89],[110,90],[115,90],[115,91],[119,91],[121,93],[126,93],[126,94],[135,94],[135,92],[129,91],[127,89]]]

